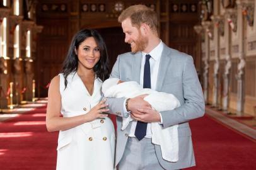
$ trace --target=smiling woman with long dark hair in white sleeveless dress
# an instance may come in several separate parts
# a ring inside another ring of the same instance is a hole
[[[46,125],[59,130],[57,169],[113,169],[115,133],[102,98],[106,45],[95,30],[74,35],[62,73],[50,83]]]

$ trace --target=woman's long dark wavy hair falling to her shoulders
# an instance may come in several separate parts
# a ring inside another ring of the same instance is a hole
[[[76,35],[74,35],[69,51],[67,52],[66,59],[62,67],[62,73],[65,78],[65,89],[67,87],[67,76],[72,72],[78,71],[78,55],[74,52],[74,49],[78,50],[79,45],[88,37],[95,38],[95,41],[100,48],[100,60],[93,67],[93,71],[96,74],[96,77],[100,78],[102,81],[108,79],[109,71],[109,60],[106,44],[98,31],[84,29],[80,30]]]

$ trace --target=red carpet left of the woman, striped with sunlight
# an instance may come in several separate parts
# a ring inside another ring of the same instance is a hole
[[[45,108],[0,123],[1,170],[55,169],[58,133],[45,127]]]

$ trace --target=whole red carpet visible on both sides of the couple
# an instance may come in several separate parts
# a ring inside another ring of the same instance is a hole
[[[58,133],[47,132],[44,121],[41,108],[0,123],[1,170],[55,169]],[[188,169],[256,169],[252,140],[207,115],[191,121],[190,127],[197,166]]]

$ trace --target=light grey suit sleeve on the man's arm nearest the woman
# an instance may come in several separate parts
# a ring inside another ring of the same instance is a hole
[[[110,78],[120,79],[119,62],[120,62],[120,55],[117,57],[117,61],[113,65]],[[128,113],[124,111],[125,98],[105,98],[105,99],[107,99],[106,103],[108,104],[108,108],[109,108],[108,113],[111,113],[117,116],[122,116],[122,117],[129,116]]]

